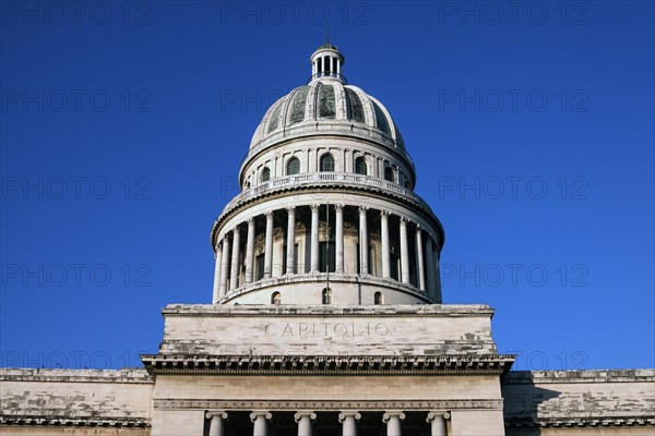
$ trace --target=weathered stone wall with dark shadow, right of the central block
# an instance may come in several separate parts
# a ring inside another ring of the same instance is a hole
[[[655,434],[655,370],[510,372],[508,436]]]

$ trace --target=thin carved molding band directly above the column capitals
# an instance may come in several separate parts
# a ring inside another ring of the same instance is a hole
[[[340,414],[356,415],[357,411],[432,411],[432,410],[502,410],[502,399],[463,400],[223,400],[223,399],[175,399],[157,398],[158,410],[271,410],[271,411],[342,411]],[[352,412],[345,412],[352,410]]]

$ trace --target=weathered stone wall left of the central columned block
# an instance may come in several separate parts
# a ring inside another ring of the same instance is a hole
[[[0,434],[146,436],[153,387],[144,370],[0,368]]]

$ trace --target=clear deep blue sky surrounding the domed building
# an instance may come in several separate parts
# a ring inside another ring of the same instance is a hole
[[[655,366],[651,1],[0,2],[3,366],[138,366],[209,303],[254,129],[330,40],[516,370]]]

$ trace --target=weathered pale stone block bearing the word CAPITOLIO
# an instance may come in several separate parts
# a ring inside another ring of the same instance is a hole
[[[497,354],[485,305],[168,305],[160,354]]]

